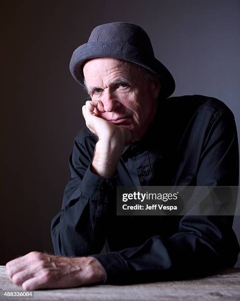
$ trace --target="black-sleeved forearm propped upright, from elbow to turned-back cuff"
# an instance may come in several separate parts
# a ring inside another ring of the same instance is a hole
[[[56,255],[88,256],[101,252],[107,206],[116,180],[117,177],[109,180],[95,175],[89,166],[81,182],[69,182],[68,186],[76,190],[70,193],[66,187],[65,194],[70,196],[64,197],[62,211],[53,218],[51,226]]]

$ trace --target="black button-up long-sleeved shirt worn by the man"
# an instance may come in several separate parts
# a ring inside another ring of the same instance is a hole
[[[75,138],[71,178],[51,227],[56,255],[93,255],[106,283],[234,266],[240,248],[233,216],[116,215],[117,185],[238,185],[237,131],[226,105],[201,95],[162,101],[143,139],[124,148],[111,179],[91,172],[96,142],[87,127]],[[109,252],[100,254],[105,242]]]

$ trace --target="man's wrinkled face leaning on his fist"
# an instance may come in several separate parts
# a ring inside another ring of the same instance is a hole
[[[101,118],[132,132],[137,141],[147,131],[157,108],[160,83],[150,82],[140,66],[124,60],[96,58],[83,72],[92,100],[100,100]]]

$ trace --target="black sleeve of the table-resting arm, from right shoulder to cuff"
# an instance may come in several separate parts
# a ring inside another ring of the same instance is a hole
[[[238,185],[238,141],[232,113],[221,110],[212,115],[207,129],[196,185]],[[139,246],[94,257],[105,268],[108,283],[205,274],[236,263],[239,244],[232,224],[233,216],[186,215],[180,219],[178,232],[169,238],[150,237]]]

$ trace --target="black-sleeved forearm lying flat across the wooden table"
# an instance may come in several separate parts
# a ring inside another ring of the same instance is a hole
[[[93,255],[106,270],[106,283],[181,279],[234,265],[237,242],[231,231],[224,230],[231,227],[230,219],[222,220],[222,216],[188,216],[189,221],[184,219],[180,231],[170,238],[154,236],[142,245]],[[199,229],[194,231],[196,227]]]

